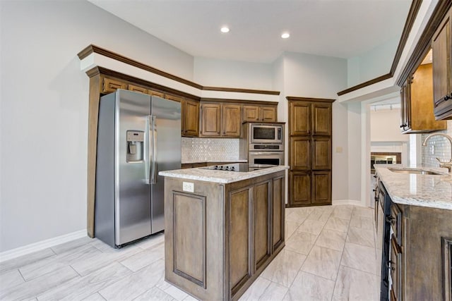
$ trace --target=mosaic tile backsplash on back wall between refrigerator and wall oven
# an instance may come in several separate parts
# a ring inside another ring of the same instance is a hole
[[[182,137],[182,163],[238,160],[239,139]]]

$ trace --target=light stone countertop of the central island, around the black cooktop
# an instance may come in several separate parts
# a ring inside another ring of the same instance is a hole
[[[187,180],[202,180],[213,183],[233,183],[241,180],[247,180],[249,178],[256,178],[258,176],[267,175],[268,173],[284,171],[285,169],[289,169],[289,166],[280,165],[249,172],[215,171],[213,169],[198,167],[176,169],[174,171],[160,171],[158,174],[160,176],[182,178]]]

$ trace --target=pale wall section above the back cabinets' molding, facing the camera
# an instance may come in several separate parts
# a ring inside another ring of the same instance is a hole
[[[234,87],[270,90],[272,66],[208,58],[194,58],[194,82],[211,87]]]

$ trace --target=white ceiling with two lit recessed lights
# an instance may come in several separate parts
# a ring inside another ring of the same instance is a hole
[[[88,0],[192,56],[350,58],[400,38],[410,0]],[[230,32],[220,32],[228,25]],[[282,39],[283,32],[290,32]],[[395,52],[395,49],[394,49]]]

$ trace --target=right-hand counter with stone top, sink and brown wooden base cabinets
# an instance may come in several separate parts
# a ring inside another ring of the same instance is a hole
[[[381,300],[451,300],[451,174],[398,164],[375,168]]]

